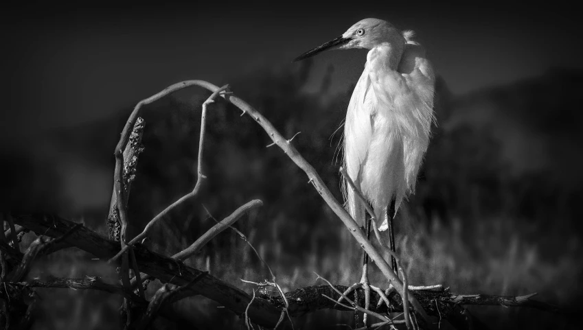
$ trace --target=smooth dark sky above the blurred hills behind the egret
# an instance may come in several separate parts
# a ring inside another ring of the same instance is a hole
[[[463,95],[540,75],[582,69],[575,8],[509,2],[432,4],[354,1],[333,5],[224,1],[163,6],[117,2],[27,3],[4,8],[3,134],[30,134],[86,123],[126,110],[174,82],[224,84],[290,60],[366,17],[417,32],[448,88]],[[334,67],[332,92],[356,82],[365,51],[315,58],[316,86]]]

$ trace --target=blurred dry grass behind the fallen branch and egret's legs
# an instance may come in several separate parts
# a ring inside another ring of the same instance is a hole
[[[213,220],[203,221],[212,226]],[[334,222],[332,215],[328,220],[315,222],[312,231],[310,228],[298,228],[300,233],[311,235],[310,243],[292,250],[282,244],[284,236],[297,235],[281,229],[290,220],[282,215],[267,224],[264,221],[251,215],[249,219],[242,220],[241,229],[269,263],[284,291],[314,284],[313,271],[332,283],[346,285],[360,279],[362,252],[352,235],[339,222]],[[271,227],[267,231],[271,235],[258,235],[259,226]],[[555,251],[560,251],[549,258],[541,250],[542,244],[530,239],[531,233],[540,233],[540,228],[523,222],[494,218],[470,225],[453,218],[446,226],[437,220],[421,222],[407,209],[402,209],[397,226],[398,250],[402,253],[409,281],[413,285],[443,283],[454,292],[464,293],[520,295],[538,292],[540,299],[560,304],[567,304],[581,295],[578,283],[583,273],[581,246],[574,235],[559,236],[549,232],[545,237],[545,247],[553,247],[554,244]],[[320,231],[325,231],[324,238],[319,235]],[[170,255],[190,244],[191,238],[188,237],[169,239],[172,233],[163,228],[157,233],[159,237],[154,239],[152,247],[159,252]],[[214,276],[248,292],[253,286],[241,283],[240,279],[262,281],[270,277],[251,248],[238,235],[225,231],[217,239],[224,243],[222,247],[214,244],[212,249],[203,250],[187,263],[194,268],[208,269]],[[371,282],[385,287],[386,280],[382,274],[374,267],[372,269]],[[92,261],[90,255],[78,250],[61,251],[41,259],[31,276],[49,274],[115,277],[104,263]],[[158,282],[150,285],[150,294],[159,285]],[[117,297],[62,289],[41,290],[41,296],[43,300],[34,329],[91,330],[119,326],[117,308],[120,300]],[[216,329],[239,329],[242,326],[238,316],[206,298],[190,298],[177,306],[187,311],[186,314],[201,327],[212,325]],[[553,316],[524,309],[472,307],[471,310],[492,329],[563,325],[562,321],[553,320]],[[352,325],[352,314],[319,311],[295,322],[296,326],[304,325],[305,329],[323,325],[332,327],[338,323]]]

